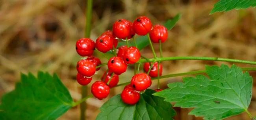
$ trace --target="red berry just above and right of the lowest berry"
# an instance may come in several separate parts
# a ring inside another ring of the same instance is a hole
[[[131,85],[132,85],[132,87],[134,87],[135,90],[143,91],[151,86],[151,79],[145,73],[135,74],[132,77]]]

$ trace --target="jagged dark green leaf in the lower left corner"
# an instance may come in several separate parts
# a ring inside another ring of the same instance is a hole
[[[73,101],[67,88],[56,74],[38,72],[21,74],[15,90],[2,97],[0,120],[55,120]]]

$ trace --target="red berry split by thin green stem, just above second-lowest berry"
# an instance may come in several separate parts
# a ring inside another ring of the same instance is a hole
[[[112,72],[108,71],[108,73],[104,73],[101,77],[101,80],[104,81],[104,83],[108,83],[109,79],[111,78]],[[104,79],[105,78],[105,79]],[[115,87],[119,81],[119,76],[113,73],[113,76],[108,84],[110,88]]]

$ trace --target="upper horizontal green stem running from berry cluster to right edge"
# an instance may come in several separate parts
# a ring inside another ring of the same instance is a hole
[[[245,63],[256,65],[256,61],[246,61],[240,59],[228,59],[219,57],[193,57],[193,56],[182,56],[182,57],[161,57],[161,58],[151,58],[151,59],[140,59],[137,63],[146,62],[159,62],[159,61],[170,61],[170,60],[206,60],[206,61],[224,61],[224,62],[234,62],[234,63]]]

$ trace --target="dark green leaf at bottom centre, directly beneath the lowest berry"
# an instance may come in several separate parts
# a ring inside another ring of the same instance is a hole
[[[163,98],[152,96],[154,90],[146,90],[135,105],[122,102],[121,96],[109,99],[102,107],[96,120],[173,120],[176,115],[172,105]]]

